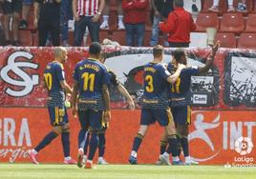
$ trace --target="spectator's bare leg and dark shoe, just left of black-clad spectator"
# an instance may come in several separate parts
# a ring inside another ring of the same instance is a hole
[[[28,17],[31,12],[33,0],[23,0],[22,3],[22,20],[19,23],[19,29],[26,30],[28,28]]]

